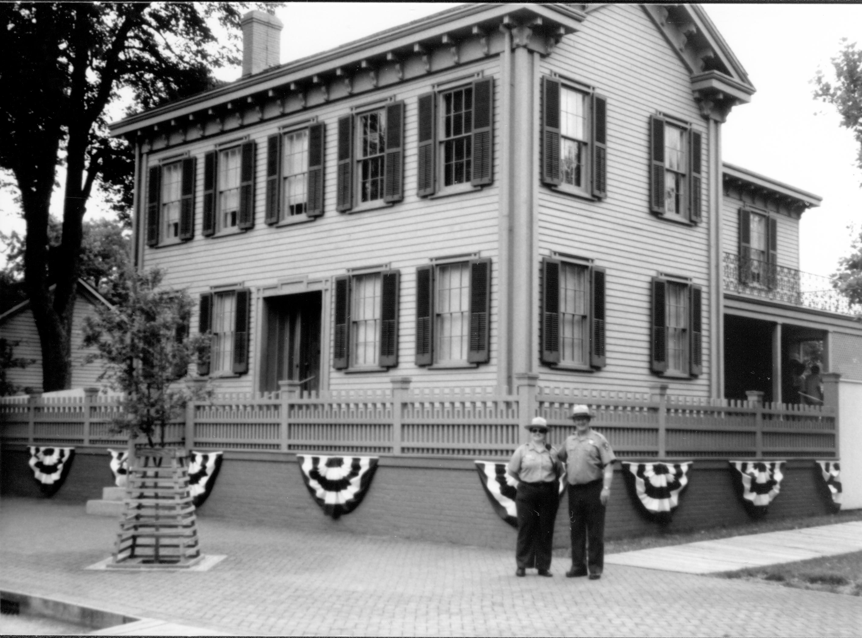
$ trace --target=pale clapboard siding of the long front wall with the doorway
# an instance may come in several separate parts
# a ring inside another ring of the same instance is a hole
[[[417,96],[428,92],[431,84],[446,83],[484,72],[484,77],[495,77],[494,83],[494,183],[483,189],[459,195],[422,199],[416,195],[416,101]],[[260,296],[255,288],[273,286],[279,279],[308,277],[309,280],[330,280],[346,275],[348,268],[359,268],[388,263],[392,269],[401,269],[401,303],[398,325],[398,366],[389,375],[380,373],[350,374],[332,369],[332,362],[322,360],[322,375],[328,375],[329,387],[390,387],[388,376],[409,375],[422,386],[451,387],[458,385],[496,386],[497,352],[497,299],[498,251],[497,207],[500,183],[500,81],[497,57],[460,65],[449,71],[434,73],[384,87],[373,94],[364,94],[315,108],[284,118],[273,119],[259,126],[247,127],[239,132],[226,132],[221,137],[193,142],[187,147],[192,156],[203,158],[215,144],[239,134],[248,135],[257,142],[255,163],[255,226],[248,232],[228,236],[203,238],[201,236],[203,202],[203,161],[197,162],[195,196],[194,239],[181,245],[145,248],[146,267],[166,269],[166,285],[187,288],[193,299],[209,290],[210,286],[240,284],[252,288],[251,344],[249,374],[217,382],[220,392],[249,392],[259,389],[259,356],[261,335],[259,313]],[[335,210],[337,121],[350,113],[352,107],[369,104],[388,97],[405,102],[404,110],[404,199],[392,206],[373,210],[341,214]],[[324,214],[314,221],[289,226],[265,226],[265,169],[266,138],[278,132],[278,127],[316,116],[326,124],[324,164]],[[147,165],[153,165],[162,156],[178,152],[176,148],[152,153]],[[146,172],[146,171],[145,171]],[[415,335],[415,269],[427,264],[432,257],[478,252],[490,257],[490,363],[478,369],[430,370],[414,366]],[[326,292],[323,297],[324,318],[332,316],[333,300]],[[328,304],[328,310],[326,305]],[[197,306],[192,325],[197,326]],[[332,331],[322,328],[322,337],[330,339]],[[323,350],[323,354],[326,349]]]

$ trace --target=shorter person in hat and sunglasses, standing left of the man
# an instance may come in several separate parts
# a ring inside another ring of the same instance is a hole
[[[557,451],[545,442],[547,421],[536,417],[526,426],[530,441],[515,449],[506,471],[518,480],[515,509],[518,512],[517,570],[523,576],[536,567],[540,576],[551,573],[553,523],[559,507],[559,476],[563,465]]]

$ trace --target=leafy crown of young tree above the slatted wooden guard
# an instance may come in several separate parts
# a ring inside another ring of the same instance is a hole
[[[187,401],[209,393],[178,382],[196,357],[209,356],[209,335],[189,334],[191,298],[159,288],[163,275],[159,269],[130,274],[125,302],[97,308],[84,325],[84,346],[95,346],[91,358],[105,362],[100,380],[122,393],[115,429],[143,435],[151,447],[157,433],[164,445],[166,425],[183,415]]]

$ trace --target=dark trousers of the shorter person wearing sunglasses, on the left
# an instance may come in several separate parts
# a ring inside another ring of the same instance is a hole
[[[515,509],[518,511],[518,567],[549,569],[553,546],[553,522],[559,507],[559,483],[518,484]]]

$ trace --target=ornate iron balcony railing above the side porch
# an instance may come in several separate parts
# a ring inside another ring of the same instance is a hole
[[[830,313],[862,314],[862,307],[850,303],[835,290],[828,277],[740,257],[732,252],[724,253],[723,276],[724,289],[731,293],[753,294]]]

